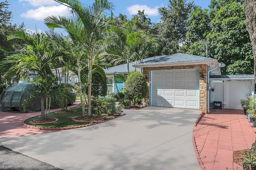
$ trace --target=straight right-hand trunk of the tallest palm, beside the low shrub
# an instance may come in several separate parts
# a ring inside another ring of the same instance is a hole
[[[88,110],[87,116],[92,117],[92,55],[88,57]]]

